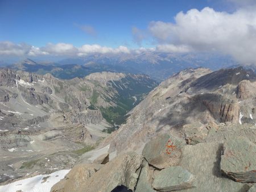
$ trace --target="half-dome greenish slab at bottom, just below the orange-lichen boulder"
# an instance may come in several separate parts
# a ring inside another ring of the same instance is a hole
[[[152,187],[158,191],[191,189],[196,187],[195,177],[181,166],[171,166],[156,174]]]

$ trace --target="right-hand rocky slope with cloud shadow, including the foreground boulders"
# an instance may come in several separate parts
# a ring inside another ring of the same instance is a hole
[[[241,67],[174,74],[51,191],[254,191],[255,77]],[[103,154],[108,163],[94,161]]]

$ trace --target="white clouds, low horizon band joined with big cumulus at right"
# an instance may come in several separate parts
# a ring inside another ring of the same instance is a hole
[[[237,0],[228,0],[239,3]],[[250,3],[250,0],[246,1]],[[86,27],[85,31],[93,31]],[[214,52],[233,56],[243,64],[256,64],[256,9],[246,6],[235,12],[220,12],[205,7],[203,10],[191,9],[179,12],[174,22],[152,21],[147,30],[133,27],[134,41],[151,42],[152,48],[129,49],[98,44],[85,44],[75,47],[68,43],[48,43],[44,47],[34,47],[26,43],[15,44],[10,41],[0,42],[0,55],[14,56],[86,56],[101,54],[139,54],[151,52]]]

